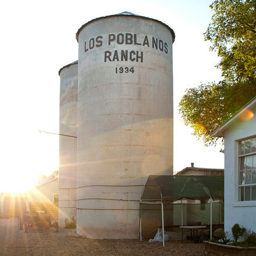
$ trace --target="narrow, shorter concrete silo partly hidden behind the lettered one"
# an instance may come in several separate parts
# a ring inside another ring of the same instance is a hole
[[[76,219],[77,63],[59,70],[59,225]]]

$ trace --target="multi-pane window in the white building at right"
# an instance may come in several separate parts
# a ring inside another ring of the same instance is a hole
[[[256,201],[256,137],[239,142],[239,201]]]

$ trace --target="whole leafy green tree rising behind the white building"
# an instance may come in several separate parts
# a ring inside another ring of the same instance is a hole
[[[256,0],[215,0],[210,8],[204,35],[221,57],[224,79],[188,89],[179,104],[185,125],[205,145],[216,144],[210,134],[256,95]]]

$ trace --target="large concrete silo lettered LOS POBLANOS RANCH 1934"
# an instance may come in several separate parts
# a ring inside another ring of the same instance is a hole
[[[148,175],[173,173],[175,34],[124,12],[91,20],[76,36],[77,233],[137,238]]]

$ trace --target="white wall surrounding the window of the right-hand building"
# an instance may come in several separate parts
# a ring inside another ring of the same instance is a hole
[[[256,232],[256,201],[239,201],[238,140],[256,136],[256,111],[250,120],[237,120],[225,131],[225,232],[232,237],[235,223]]]

